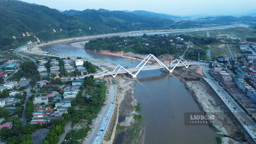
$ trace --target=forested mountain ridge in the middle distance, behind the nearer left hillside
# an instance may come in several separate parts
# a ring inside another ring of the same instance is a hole
[[[174,23],[171,19],[146,17],[134,13],[108,11],[104,9],[86,9],[84,11],[68,10],[61,13],[77,16],[93,23],[107,25],[116,31],[166,29]]]

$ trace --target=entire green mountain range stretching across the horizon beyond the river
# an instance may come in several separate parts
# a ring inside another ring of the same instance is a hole
[[[253,14],[252,14],[253,15]],[[254,13],[255,15],[255,13]],[[159,29],[196,28],[243,22],[255,28],[256,17],[180,17],[147,11],[56,9],[17,0],[0,0],[0,50],[60,38]],[[175,20],[175,21],[174,21]]]

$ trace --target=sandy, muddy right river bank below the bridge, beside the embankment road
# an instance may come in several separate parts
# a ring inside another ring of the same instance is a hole
[[[185,84],[185,88],[194,98],[203,114],[214,115],[215,124],[209,126],[222,137],[223,143],[246,143],[243,141],[243,132],[236,125],[236,119],[231,118],[225,106],[220,104],[218,97],[211,91],[209,85],[201,80],[201,76],[204,76],[201,73],[204,66],[200,69],[196,67],[192,66],[183,70],[184,74],[180,74],[180,69],[177,68],[177,71],[174,71],[173,74]]]

